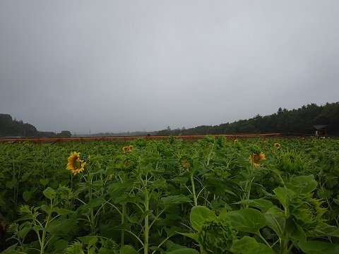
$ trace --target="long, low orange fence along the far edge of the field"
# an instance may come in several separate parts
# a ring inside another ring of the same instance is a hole
[[[221,134],[220,134],[221,135]],[[220,135],[214,135],[218,138]],[[225,138],[246,139],[246,138],[281,138],[281,133],[261,133],[261,134],[222,134]],[[197,140],[205,137],[205,135],[174,135],[174,138],[182,138],[184,140]],[[109,136],[109,137],[75,137],[75,138],[7,138],[0,139],[0,143],[23,143],[25,141],[42,144],[42,143],[64,143],[64,142],[83,142],[83,141],[105,141],[105,140],[133,140],[136,138],[145,138],[146,140],[161,140],[169,138],[168,135],[146,135],[146,136]]]

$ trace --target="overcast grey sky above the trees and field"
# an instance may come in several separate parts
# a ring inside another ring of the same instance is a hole
[[[338,102],[338,13],[338,0],[1,0],[0,113],[99,133]]]

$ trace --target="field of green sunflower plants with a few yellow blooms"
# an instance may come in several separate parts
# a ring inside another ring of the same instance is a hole
[[[0,144],[1,253],[339,253],[339,140]]]

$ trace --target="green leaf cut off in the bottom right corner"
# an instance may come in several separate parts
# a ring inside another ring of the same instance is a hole
[[[338,254],[339,244],[324,241],[303,241],[298,243],[299,248],[306,254]]]

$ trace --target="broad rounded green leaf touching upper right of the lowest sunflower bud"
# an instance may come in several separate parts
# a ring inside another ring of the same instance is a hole
[[[253,208],[227,212],[226,217],[230,219],[234,229],[243,232],[256,233],[266,225],[263,213]]]

